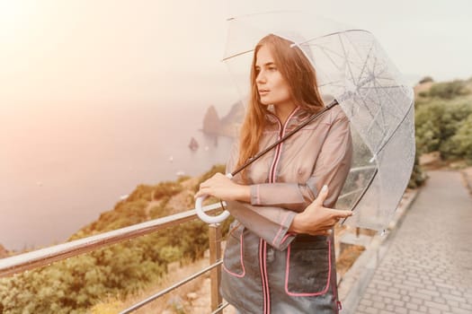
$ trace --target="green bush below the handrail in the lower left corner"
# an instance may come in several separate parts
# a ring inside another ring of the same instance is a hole
[[[85,313],[107,294],[127,295],[165,272],[128,243],[0,279],[4,313]]]

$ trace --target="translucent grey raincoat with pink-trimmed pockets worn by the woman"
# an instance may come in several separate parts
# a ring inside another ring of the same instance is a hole
[[[282,126],[267,115],[260,150],[310,114],[295,109]],[[232,171],[237,145],[227,163]],[[251,204],[227,202],[236,221],[223,260],[221,293],[242,313],[337,313],[334,238],[292,234],[289,226],[327,185],[333,207],[352,162],[349,120],[334,106],[249,166]],[[239,175],[236,182],[241,182]]]

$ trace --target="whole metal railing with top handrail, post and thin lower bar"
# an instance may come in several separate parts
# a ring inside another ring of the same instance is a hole
[[[208,205],[203,207],[203,211],[207,214],[217,212],[221,208],[220,204]],[[120,243],[126,240],[138,238],[156,231],[162,231],[183,222],[190,222],[197,219],[196,211],[190,210],[187,212],[173,214],[158,218],[149,222],[138,223],[129,227],[117,229],[114,231],[103,232],[91,237],[79,240],[72,240],[67,243],[59,244],[50,248],[38,249],[28,253],[19,254],[13,257],[5,257],[0,259],[0,278],[22,273],[41,266],[48,266],[49,264],[64,260],[69,257],[76,257],[78,255],[94,251],[95,249],[102,249],[109,247],[112,244]],[[148,297],[144,301],[140,301],[127,310],[121,313],[130,313],[138,310],[150,301],[154,301],[162,297],[168,292],[174,291],[184,283],[210,272],[210,300],[211,310],[213,313],[221,313],[227,307],[227,303],[222,303],[221,295],[219,294],[219,278],[221,275],[221,228],[218,224],[209,225],[209,263],[210,265],[200,272],[195,273],[179,283],[166,288],[161,292]]]

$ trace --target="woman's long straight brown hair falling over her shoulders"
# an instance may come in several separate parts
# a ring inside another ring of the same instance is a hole
[[[259,141],[266,124],[267,106],[261,103],[257,91],[255,63],[257,52],[263,46],[271,50],[274,63],[290,87],[292,100],[302,109],[316,113],[325,106],[317,89],[316,73],[303,51],[293,42],[279,36],[269,34],[259,41],[254,48],[253,64],[251,65],[251,92],[241,127],[239,142],[239,159],[236,169],[259,151]],[[246,171],[242,171],[242,179],[247,182]]]

